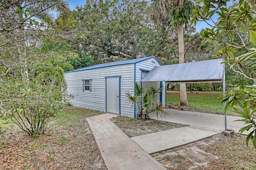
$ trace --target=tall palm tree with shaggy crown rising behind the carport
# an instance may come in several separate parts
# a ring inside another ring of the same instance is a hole
[[[183,25],[187,27],[190,14],[194,9],[194,4],[186,0],[151,0],[148,14],[152,21],[162,29],[177,29],[179,45],[179,63],[184,63],[184,38]],[[188,98],[186,84],[180,83],[180,105],[187,106]]]

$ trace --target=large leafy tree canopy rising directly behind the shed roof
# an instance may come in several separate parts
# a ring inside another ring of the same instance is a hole
[[[95,63],[165,56],[172,33],[152,24],[146,8],[147,2],[140,0],[87,0],[76,6],[78,51],[87,52]]]

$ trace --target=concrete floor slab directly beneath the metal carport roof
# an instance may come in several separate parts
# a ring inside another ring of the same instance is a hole
[[[151,119],[168,121],[172,123],[180,123],[185,125],[192,125],[198,127],[205,127],[209,129],[224,130],[224,116],[210,113],[199,113],[192,111],[182,111],[174,109],[164,109],[169,115],[156,116],[154,113],[150,113]],[[239,129],[244,127],[244,123],[241,121],[234,121],[241,119],[241,117],[227,116],[227,129],[234,130],[238,133]],[[244,131],[244,135],[248,135],[250,131]]]

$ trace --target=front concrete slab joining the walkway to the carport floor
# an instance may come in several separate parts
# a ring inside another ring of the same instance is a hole
[[[204,139],[222,131],[195,126],[186,126],[167,131],[132,137],[147,153],[159,152]]]

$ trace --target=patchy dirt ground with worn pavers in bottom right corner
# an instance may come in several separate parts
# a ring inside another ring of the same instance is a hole
[[[256,150],[247,148],[245,139],[237,133],[232,138],[220,133],[151,156],[168,170],[254,170]]]

